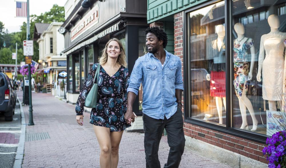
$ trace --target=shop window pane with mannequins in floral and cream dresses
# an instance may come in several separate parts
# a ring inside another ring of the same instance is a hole
[[[285,1],[282,5],[277,1],[272,5],[260,0],[249,2],[248,6],[244,0],[232,3],[232,125],[270,136],[285,116],[281,115],[286,76]],[[259,21],[256,15],[253,23],[239,19],[249,18],[252,13],[259,13]],[[271,124],[274,116],[279,118]]]

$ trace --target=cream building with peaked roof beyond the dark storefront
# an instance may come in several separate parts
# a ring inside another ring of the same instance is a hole
[[[39,70],[43,72],[43,83],[51,84],[51,93],[54,96],[64,96],[60,89],[63,80],[59,73],[65,71],[66,55],[61,53],[64,49],[64,37],[58,32],[62,22],[36,23],[34,31],[34,41],[39,44]]]

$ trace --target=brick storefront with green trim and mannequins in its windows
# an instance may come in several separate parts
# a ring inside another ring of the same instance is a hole
[[[234,153],[212,158],[267,163],[261,151],[285,116],[286,0],[157,0],[148,7],[150,25],[174,19],[186,139]]]

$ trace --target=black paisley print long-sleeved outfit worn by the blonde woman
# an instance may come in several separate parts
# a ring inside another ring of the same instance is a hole
[[[76,103],[76,114],[82,115],[86,95],[92,88],[94,74],[98,64],[94,64],[90,69],[88,77],[84,83],[82,91]],[[110,131],[123,131],[130,127],[124,119],[127,111],[127,88],[130,74],[128,69],[121,66],[113,75],[109,76],[104,68],[100,66],[98,77],[98,99],[96,108],[92,108],[90,123],[110,128]]]

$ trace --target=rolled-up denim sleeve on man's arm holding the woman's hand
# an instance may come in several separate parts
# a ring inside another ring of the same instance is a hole
[[[142,77],[143,77],[143,69],[141,63],[140,61],[136,60],[132,73],[130,75],[127,92],[133,92],[136,95],[138,95],[138,90],[142,82]]]

